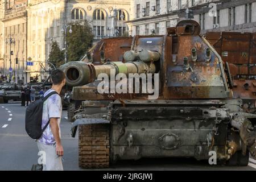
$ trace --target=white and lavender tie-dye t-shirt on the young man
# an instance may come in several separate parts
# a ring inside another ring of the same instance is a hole
[[[53,91],[54,91],[53,89],[47,90],[47,92],[44,93],[44,97],[47,96],[48,93],[51,93]],[[57,118],[58,126],[60,129],[61,113],[62,113],[61,97],[59,96],[59,94],[53,94],[44,102],[44,105],[43,105],[42,129],[44,128],[44,126],[46,126],[50,118]],[[48,144],[48,145],[52,145],[56,143],[53,137],[50,125],[48,125],[46,130],[44,130],[42,137],[39,138],[39,142]]]

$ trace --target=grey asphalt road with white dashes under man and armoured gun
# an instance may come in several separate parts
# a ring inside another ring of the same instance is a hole
[[[26,134],[24,117],[26,107],[19,102],[0,104],[0,170],[30,170],[39,156],[36,142]],[[72,124],[67,111],[61,118],[61,137],[64,147],[64,170],[84,170],[78,166],[78,139],[69,135]],[[97,170],[97,169],[96,169]],[[207,161],[195,159],[142,159],[123,161],[105,170],[256,170],[256,161],[247,167],[210,166]]]

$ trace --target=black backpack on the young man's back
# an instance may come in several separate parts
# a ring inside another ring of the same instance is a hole
[[[49,125],[49,121],[46,126],[42,129],[42,117],[43,117],[43,104],[44,101],[47,100],[53,94],[58,94],[56,91],[53,91],[47,94],[46,97],[42,98],[42,100],[36,100],[35,102],[31,102],[30,105],[27,106],[26,109],[26,117],[25,117],[25,125],[27,134],[32,139],[39,139],[46,127]]]

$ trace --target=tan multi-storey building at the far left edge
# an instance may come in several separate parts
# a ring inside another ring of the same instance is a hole
[[[26,0],[2,1],[2,54],[1,73],[11,81],[26,81],[27,13]]]

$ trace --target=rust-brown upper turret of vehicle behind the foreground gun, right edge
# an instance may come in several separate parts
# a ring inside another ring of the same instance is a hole
[[[256,79],[256,33],[207,32],[205,38],[228,61],[234,78]]]

